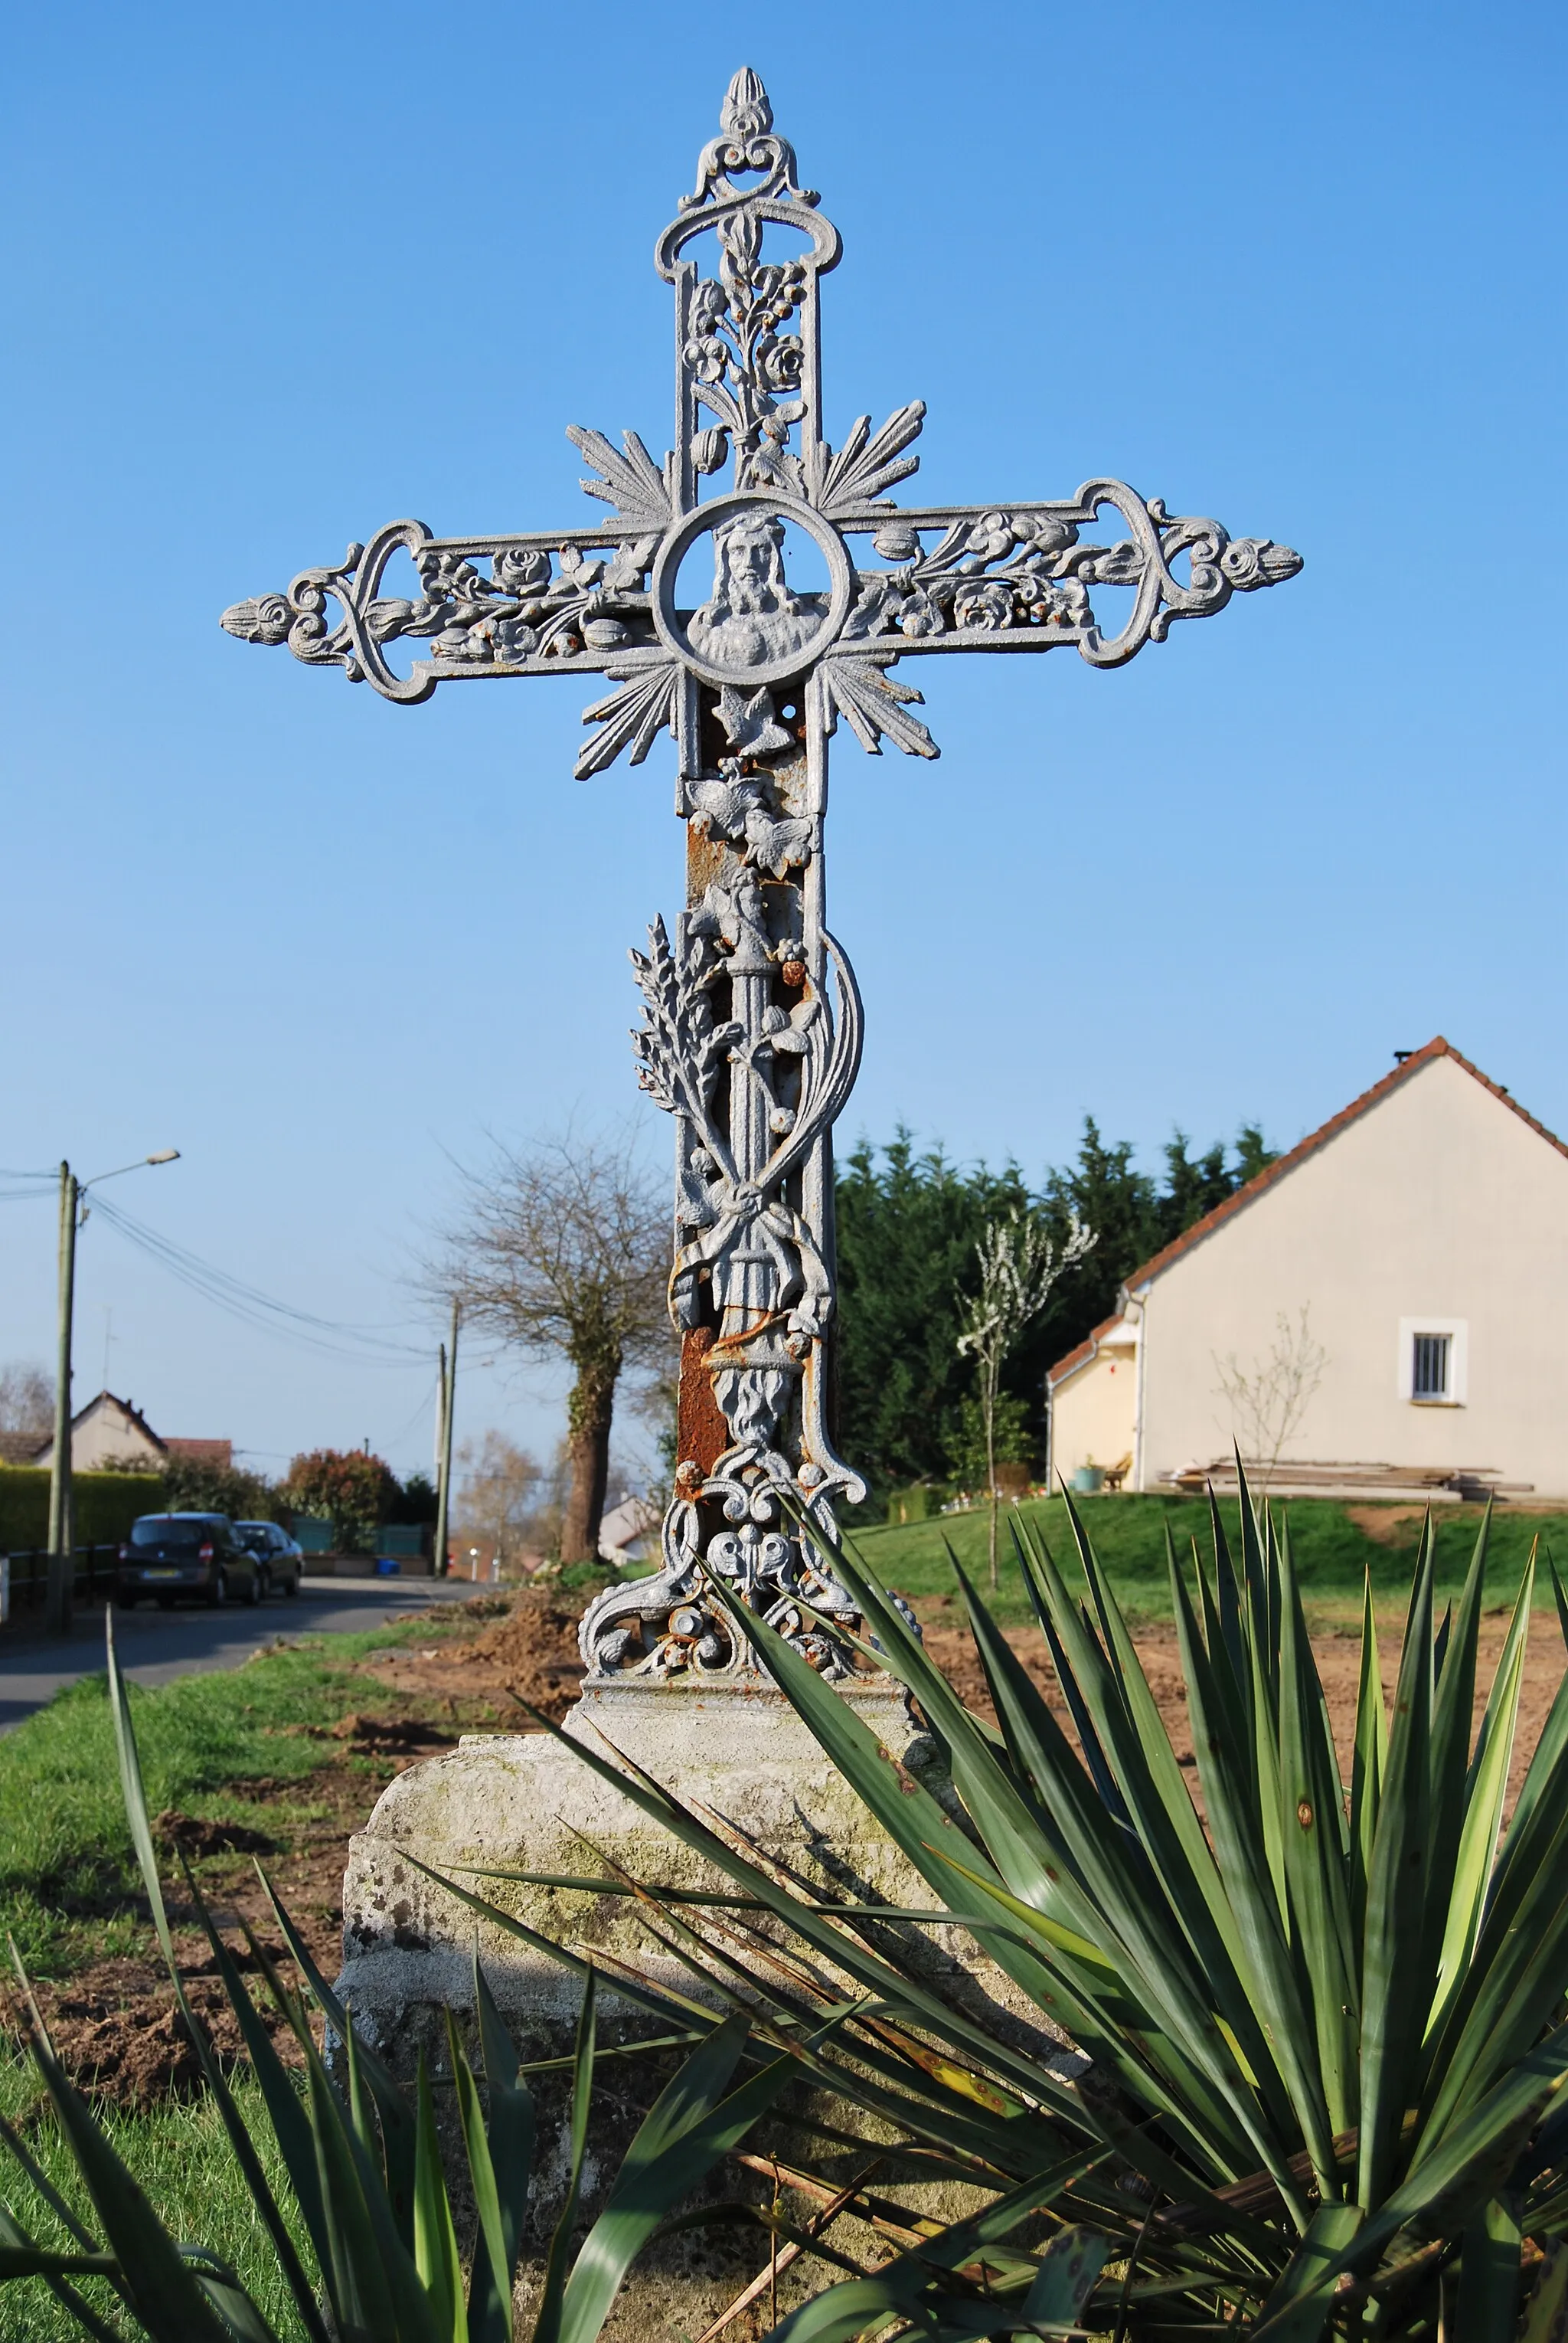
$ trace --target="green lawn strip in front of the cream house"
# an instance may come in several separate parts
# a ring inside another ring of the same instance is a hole
[[[1029,1598],[1013,1563],[1013,1539],[1008,1537],[1008,1514],[1001,1514],[996,1614],[1017,1624],[1031,1617]],[[1017,1509],[1059,1565],[1071,1565],[1076,1556],[1073,1530],[1062,1497],[1041,1497]],[[1315,1612],[1341,1612],[1362,1600],[1362,1579],[1371,1570],[1373,1596],[1402,1603],[1411,1582],[1420,1516],[1413,1507],[1395,1504],[1334,1504],[1327,1497],[1298,1497],[1282,1507],[1289,1521],[1291,1553],[1301,1574],[1301,1589]],[[1479,1507],[1437,1507],[1437,1570],[1441,1586],[1458,1586],[1474,1553],[1481,1528]],[[1090,1497],[1080,1507],[1080,1518],[1095,1553],[1109,1570],[1116,1589],[1132,1612],[1170,1617],[1170,1584],[1165,1574],[1165,1530],[1179,1556],[1209,1553],[1209,1507],[1202,1497]],[[1235,1502],[1221,1502],[1221,1518],[1233,1551],[1240,1549],[1235,1528]],[[1380,1535],[1371,1535],[1369,1523]],[[954,1577],[947,1563],[947,1544],[984,1591],[989,1516],[982,1509],[970,1514],[945,1514],[935,1521],[914,1521],[900,1530],[867,1528],[851,1530],[851,1539],[884,1584],[902,1596],[952,1593]],[[1552,1549],[1559,1570],[1568,1567],[1568,1511],[1523,1514],[1498,1507],[1491,1521],[1488,1574],[1493,1600],[1507,1600],[1526,1565],[1530,1542],[1540,1537]],[[1545,1600],[1552,1600],[1549,1584]]]

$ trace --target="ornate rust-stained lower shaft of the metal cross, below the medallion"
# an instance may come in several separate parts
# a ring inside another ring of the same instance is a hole
[[[752,703],[745,719],[757,743],[778,729],[771,708]],[[802,1535],[832,1539],[834,1500],[865,1495],[825,1425],[834,1279],[804,1169],[848,1099],[863,1019],[839,944],[806,940],[813,825],[778,811],[778,785],[727,759],[694,787],[694,827],[727,841],[727,874],[673,940],[656,921],[633,954],[640,1082],[682,1134],[670,1319],[696,1338],[729,1439],[705,1464],[682,1460],[659,1577],[586,1612],[595,1673],[755,1673],[715,1579],[830,1680],[855,1666],[834,1635],[834,1621],[858,1628],[853,1605]],[[811,958],[832,968],[837,1010]]]

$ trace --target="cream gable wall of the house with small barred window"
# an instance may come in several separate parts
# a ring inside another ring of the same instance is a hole
[[[1226,1453],[1216,1361],[1266,1359],[1280,1314],[1308,1305],[1327,1361],[1287,1457],[1477,1467],[1568,1495],[1568,1157],[1451,1057],[1219,1221],[1141,1303],[1139,1488]],[[1441,1403],[1411,1394],[1418,1331],[1448,1336]]]

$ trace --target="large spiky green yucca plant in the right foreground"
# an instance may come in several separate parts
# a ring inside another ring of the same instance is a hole
[[[663,1942],[762,1994],[797,2043],[848,1977],[863,2001],[809,2052],[816,2078],[994,2191],[956,2231],[914,2224],[895,2263],[799,2306],[780,2338],[895,2320],[930,2338],[1568,2331],[1568,1689],[1505,1830],[1535,1560],[1474,1734],[1486,1523],[1441,1621],[1423,1530],[1392,1715],[1366,1593],[1345,1781],[1284,1525],[1242,1485],[1238,1549],[1216,1509],[1212,1530],[1207,1567],[1170,1556],[1202,1809],[1076,1514],[1078,1589],[1015,1532],[1076,1743],[956,1560],[998,1729],[855,1553],[830,1553],[947,1753],[959,1818],[731,1605],[940,1917],[1088,2052],[1078,2081],[923,1982],[912,1912],[832,1903],[647,1774],[579,1750],[743,1891],[703,1921],[649,1910]],[[1069,2327],[1034,2291],[1041,2224],[1090,2273],[1055,2310]]]

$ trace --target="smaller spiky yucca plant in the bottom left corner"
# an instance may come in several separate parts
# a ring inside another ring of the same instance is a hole
[[[349,2013],[319,1975],[279,1900],[272,1898],[284,1940],[305,1980],[302,1994],[288,1992],[248,1928],[246,1940],[272,2001],[300,2043],[305,2057],[305,2088],[300,2090],[272,2045],[230,1947],[195,1881],[185,1874],[188,1893],[206,1931],[265,2097],[293,2202],[279,2202],[274,2195],[176,1966],[131,1708],[115,1659],[113,1619],[108,1689],[127,1816],[152,1926],[173,1977],[183,2022],[197,2045],[206,2088],[218,2104],[244,2184],[267,2228],[295,2315],[291,2334],[298,2331],[309,2343],[509,2343],[513,2280],[534,2160],[534,2104],[518,2069],[516,2045],[485,1985],[478,1954],[473,2003],[483,2090],[448,2013],[448,2057],[457,2095],[462,2163],[478,2209],[478,2235],[464,2282],[424,2062],[420,2062],[410,2104],[391,2071],[359,2038]],[[574,1966],[581,1968],[581,1963]],[[70,2149],[84,2202],[80,2209],[66,2202],[30,2156],[23,2137],[12,2125],[0,2125],[12,2156],[73,2240],[66,2249],[42,2247],[23,2231],[14,2212],[0,2207],[0,2282],[42,2277],[82,2331],[103,2338],[103,2343],[117,2343],[124,2329],[98,2315],[82,2296],[82,2277],[105,2280],[120,2306],[155,2343],[277,2343],[274,2329],[234,2270],[202,2247],[180,2245],[166,2233],[157,2209],[66,2076],[21,1968],[19,1982],[30,2010],[33,2057]],[[715,2024],[713,2013],[698,2006],[675,2008],[659,1994],[635,1987],[623,1992],[630,1992],[630,1999],[649,2013],[668,2017],[673,2010],[680,2022],[677,2038],[696,2043],[696,2048],[647,2113],[600,2216],[572,2254],[595,2062],[595,1980],[593,1973],[584,1973],[570,2092],[570,2179],[546,2256],[539,2308],[530,2329],[532,2343],[593,2343],[635,2254],[673,2207],[752,2130],[792,2074],[795,2062],[788,2052],[766,2064],[757,2064],[752,2052],[750,2071],[736,2081],[748,2057],[750,2024],[745,2015],[731,2015]],[[309,2022],[312,2008],[338,2036],[342,2088],[321,2057]],[[89,2221],[96,2224],[96,2233]]]

